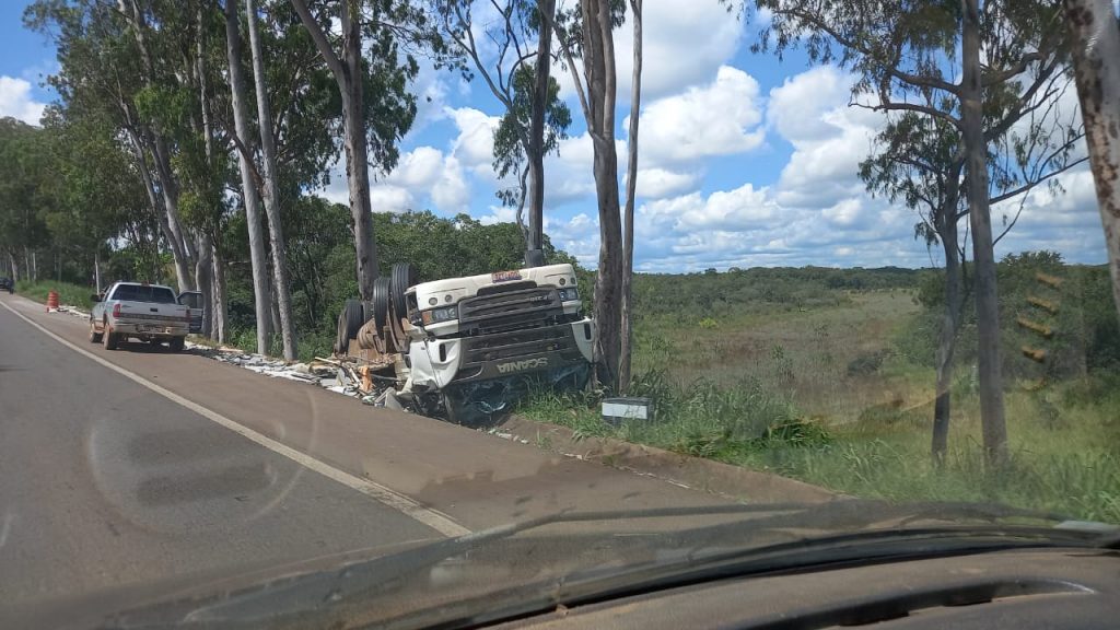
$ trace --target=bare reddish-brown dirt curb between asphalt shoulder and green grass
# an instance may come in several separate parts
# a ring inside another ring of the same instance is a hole
[[[654,476],[696,490],[752,503],[818,503],[842,498],[823,488],[780,476],[673,453],[663,448],[632,444],[612,437],[578,439],[567,427],[510,416],[491,430],[500,437],[528,442],[569,457],[598,462],[605,466]]]

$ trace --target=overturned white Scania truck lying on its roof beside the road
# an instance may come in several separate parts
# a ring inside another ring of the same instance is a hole
[[[474,424],[534,383],[585,387],[595,334],[571,265],[417,282],[400,263],[372,302],[347,302],[335,351],[389,386],[390,405]]]

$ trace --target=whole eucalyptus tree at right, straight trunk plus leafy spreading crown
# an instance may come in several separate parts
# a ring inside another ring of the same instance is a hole
[[[853,71],[853,104],[941,121],[958,133],[972,238],[978,369],[988,462],[1008,456],[999,358],[992,177],[1008,132],[1051,106],[1063,90],[1065,30],[1055,2],[977,0],[757,0],[772,12],[756,50],[803,47],[814,63]],[[981,65],[981,56],[984,64]],[[1075,135],[1075,133],[1074,133]],[[1063,133],[1058,146],[1074,146]],[[997,155],[992,156],[992,149]]]

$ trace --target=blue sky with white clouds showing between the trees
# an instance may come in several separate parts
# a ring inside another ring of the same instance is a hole
[[[0,2],[0,115],[34,119],[53,98],[38,85],[40,75],[56,66],[48,43],[22,29],[20,4]],[[485,28],[485,13],[476,24]],[[913,238],[915,215],[870,197],[856,175],[883,121],[847,106],[851,78],[837,68],[811,67],[799,54],[782,62],[753,54],[756,33],[756,24],[737,20],[715,1],[646,0],[636,267],[936,263],[936,252]],[[616,133],[625,168],[628,28],[616,33]],[[575,123],[559,155],[545,163],[545,226],[553,243],[594,267],[591,146],[571,78],[558,78]],[[512,220],[494,196],[491,143],[501,105],[485,84],[424,68],[413,87],[420,113],[398,168],[377,174],[374,207]],[[1075,105],[1071,93],[1068,108]],[[344,177],[336,168],[321,194],[345,202]],[[1064,193],[1038,189],[1024,201],[998,254],[1046,248],[1073,261],[1104,261],[1088,170],[1060,180]],[[1018,204],[993,209],[993,223]]]

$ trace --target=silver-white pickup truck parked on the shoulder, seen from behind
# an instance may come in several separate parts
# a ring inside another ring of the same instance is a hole
[[[183,350],[190,326],[190,309],[180,305],[171,287],[141,282],[116,282],[102,295],[91,296],[90,341],[116,350],[136,337],[152,344],[167,342],[172,352]]]

